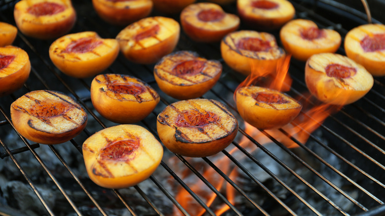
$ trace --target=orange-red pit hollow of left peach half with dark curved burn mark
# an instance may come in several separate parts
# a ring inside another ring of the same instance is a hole
[[[34,99],[33,99],[34,100]],[[39,102],[30,108],[31,115],[40,118],[49,118],[62,115],[71,107],[68,103],[58,103],[50,100]]]

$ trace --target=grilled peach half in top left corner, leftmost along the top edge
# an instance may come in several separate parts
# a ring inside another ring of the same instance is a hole
[[[76,21],[71,0],[21,0],[15,4],[13,15],[20,32],[39,39],[62,36]]]

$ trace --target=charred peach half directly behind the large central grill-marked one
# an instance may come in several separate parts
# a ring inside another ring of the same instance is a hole
[[[201,58],[192,51],[171,53],[154,67],[160,90],[179,100],[202,96],[215,85],[221,73],[219,61]]]

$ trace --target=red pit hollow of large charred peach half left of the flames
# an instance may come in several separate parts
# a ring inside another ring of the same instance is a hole
[[[176,119],[177,127],[202,127],[219,120],[219,116],[212,112],[185,110]]]

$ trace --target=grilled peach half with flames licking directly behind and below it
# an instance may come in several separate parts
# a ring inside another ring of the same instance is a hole
[[[277,129],[293,121],[302,105],[280,91],[246,86],[236,91],[236,108],[250,125],[259,129]]]

